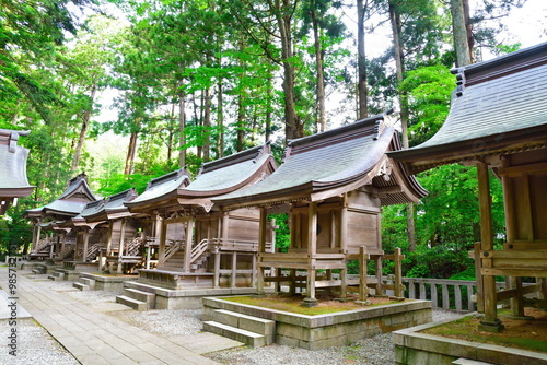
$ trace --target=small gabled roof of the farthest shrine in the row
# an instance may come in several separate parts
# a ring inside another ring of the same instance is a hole
[[[65,189],[59,198],[44,207],[30,209],[25,214],[28,217],[45,215],[77,216],[89,202],[95,200],[97,198],[88,185],[88,176],[80,174],[69,181],[67,189]]]

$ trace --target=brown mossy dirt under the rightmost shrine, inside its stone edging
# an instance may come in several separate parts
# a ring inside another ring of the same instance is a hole
[[[498,333],[479,331],[480,318],[477,317],[467,317],[466,320],[453,321],[423,332],[547,353],[547,311],[525,308],[524,314],[534,319],[513,319],[501,314],[500,319],[505,328]]]

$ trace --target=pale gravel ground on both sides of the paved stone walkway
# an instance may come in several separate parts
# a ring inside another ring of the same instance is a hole
[[[42,280],[36,275],[36,280]],[[45,281],[44,285],[82,303],[107,304],[114,303],[119,293],[105,291],[80,292],[68,281]],[[153,333],[172,335],[191,335],[201,331],[201,309],[194,310],[149,310],[110,311],[118,319],[126,320]],[[457,317],[457,314],[445,310],[433,310],[433,320]],[[7,352],[0,356],[0,364],[78,364],[78,362],[62,349],[49,333],[32,319],[18,323],[21,331],[20,356],[13,362],[13,356]],[[7,326],[2,326],[2,329]],[[4,331],[1,332],[2,338]],[[7,333],[7,332],[5,332]],[[350,345],[335,346],[319,351],[310,351],[299,348],[272,344],[259,349],[242,346],[237,349],[209,353],[206,356],[226,365],[342,365],[342,364],[394,364],[393,343],[391,333],[380,334],[371,339],[360,340]],[[32,362],[28,362],[33,358]],[[25,361],[26,360],[26,361]],[[34,361],[36,360],[36,361]],[[20,362],[21,361],[21,362]]]

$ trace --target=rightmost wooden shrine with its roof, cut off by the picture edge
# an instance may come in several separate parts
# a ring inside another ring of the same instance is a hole
[[[481,329],[499,331],[500,301],[511,299],[520,318],[526,305],[547,308],[547,43],[453,73],[457,89],[439,132],[389,155],[411,174],[451,163],[477,166],[477,308],[485,313]],[[503,185],[503,249],[493,247],[489,170]],[[510,287],[498,292],[496,275]],[[523,278],[535,283],[523,286]]]

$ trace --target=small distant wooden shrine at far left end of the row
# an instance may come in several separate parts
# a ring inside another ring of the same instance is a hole
[[[25,216],[34,222],[30,257],[75,259],[75,247],[84,246],[84,236],[78,232],[72,219],[93,201],[96,201],[96,197],[88,185],[88,176],[80,174],[68,182],[59,198],[44,207],[27,210]],[[49,233],[44,238],[43,231]]]

